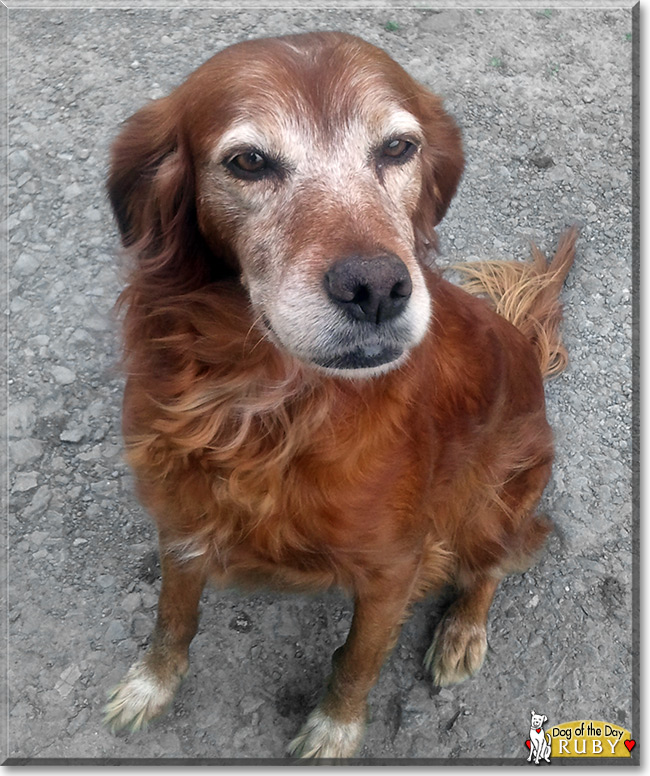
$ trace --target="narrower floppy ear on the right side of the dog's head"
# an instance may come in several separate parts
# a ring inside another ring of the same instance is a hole
[[[442,221],[463,174],[465,157],[460,129],[442,107],[442,100],[421,88],[417,113],[425,134],[422,189],[414,225],[425,251],[436,247],[434,227]]]

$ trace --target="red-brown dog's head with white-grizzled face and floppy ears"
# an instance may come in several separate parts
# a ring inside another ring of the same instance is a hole
[[[382,50],[313,33],[231,46],[136,113],[108,187],[159,293],[236,274],[277,346],[354,377],[423,338],[420,262],[462,169],[437,97]]]

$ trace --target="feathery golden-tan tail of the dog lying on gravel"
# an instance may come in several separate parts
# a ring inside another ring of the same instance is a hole
[[[466,277],[465,291],[486,295],[494,309],[533,343],[544,377],[559,374],[567,365],[558,297],[573,264],[577,237],[575,226],[564,232],[550,263],[532,245],[529,262],[478,261],[454,267]]]

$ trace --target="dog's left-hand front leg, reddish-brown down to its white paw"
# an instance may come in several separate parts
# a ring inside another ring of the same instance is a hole
[[[180,562],[161,542],[162,586],[150,646],[114,688],[105,709],[112,729],[146,725],[171,703],[189,667],[206,575],[201,559]]]

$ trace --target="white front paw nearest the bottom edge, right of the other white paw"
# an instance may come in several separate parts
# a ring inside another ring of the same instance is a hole
[[[354,757],[363,741],[363,719],[337,722],[316,707],[289,744],[293,757]]]

